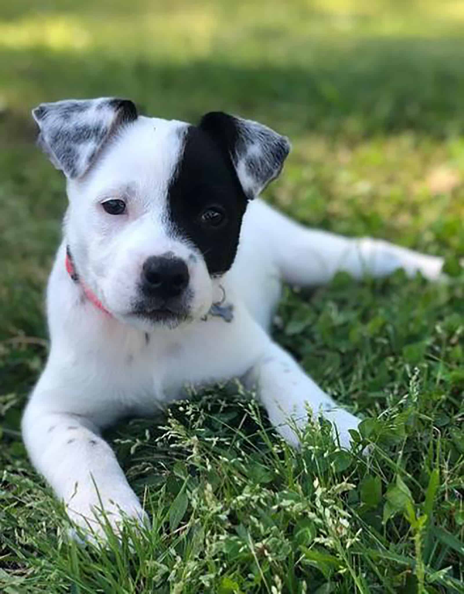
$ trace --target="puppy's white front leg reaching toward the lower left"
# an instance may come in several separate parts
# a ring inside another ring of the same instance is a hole
[[[138,498],[96,426],[81,415],[53,412],[45,406],[52,400],[41,396],[34,393],[28,403],[23,438],[33,465],[65,502],[69,518],[100,536],[97,517],[102,507],[116,531],[123,515],[142,521],[145,513]],[[59,397],[54,402],[59,403]]]

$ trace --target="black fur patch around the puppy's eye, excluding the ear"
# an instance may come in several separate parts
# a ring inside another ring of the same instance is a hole
[[[247,198],[230,157],[195,126],[185,133],[182,159],[167,202],[175,232],[202,252],[209,274],[225,273],[236,257]],[[216,211],[221,213],[217,230]]]

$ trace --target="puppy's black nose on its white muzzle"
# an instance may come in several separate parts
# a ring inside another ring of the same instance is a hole
[[[142,288],[150,296],[177,297],[189,284],[189,269],[180,258],[150,256],[142,267]]]

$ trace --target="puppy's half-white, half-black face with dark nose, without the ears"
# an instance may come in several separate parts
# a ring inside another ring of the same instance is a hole
[[[246,197],[205,132],[138,118],[68,195],[75,265],[116,317],[175,325],[218,299]]]

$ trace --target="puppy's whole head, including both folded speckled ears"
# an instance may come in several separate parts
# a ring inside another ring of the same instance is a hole
[[[145,331],[204,316],[287,139],[221,112],[198,126],[145,118],[122,99],[43,103],[33,116],[67,179],[76,271],[104,307]]]

